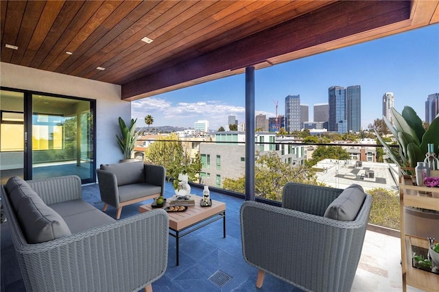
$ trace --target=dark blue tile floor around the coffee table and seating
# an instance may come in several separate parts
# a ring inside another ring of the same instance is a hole
[[[174,195],[170,183],[167,183],[165,190],[165,197]],[[191,193],[202,195],[202,188],[193,187]],[[96,208],[102,209],[104,206],[97,184],[83,186],[82,197]],[[213,191],[211,197],[226,203],[226,238],[223,238],[222,220],[183,236],[180,238],[180,265],[177,267],[176,239],[169,236],[167,270],[152,283],[153,291],[300,291],[270,274],[265,275],[263,287],[257,289],[257,269],[244,261],[241,252],[239,208],[244,200]],[[139,206],[151,202],[123,207],[121,219],[138,214]],[[106,213],[115,217],[116,210],[108,207]],[[14,254],[11,256],[13,246],[5,224],[1,225],[1,291],[24,291],[18,263],[14,263]],[[217,271],[231,277],[222,287],[209,280]]]

